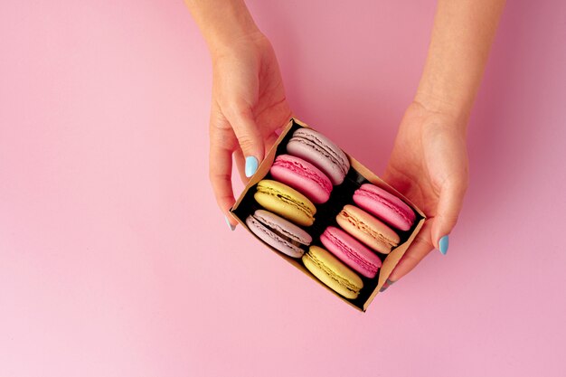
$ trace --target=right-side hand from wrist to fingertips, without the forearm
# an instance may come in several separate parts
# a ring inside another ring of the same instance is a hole
[[[415,203],[427,220],[392,271],[387,288],[430,250],[448,251],[467,189],[466,117],[414,101],[401,120],[384,179]]]

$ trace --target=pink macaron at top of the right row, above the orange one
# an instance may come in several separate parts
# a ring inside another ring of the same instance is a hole
[[[354,203],[401,231],[409,231],[415,222],[409,205],[374,184],[362,184],[354,192]]]

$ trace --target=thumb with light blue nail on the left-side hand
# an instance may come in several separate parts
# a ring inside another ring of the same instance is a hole
[[[259,163],[264,156],[263,137],[255,122],[253,112],[248,106],[236,106],[226,114],[226,118],[238,138],[246,161],[245,174],[250,177],[258,170]]]

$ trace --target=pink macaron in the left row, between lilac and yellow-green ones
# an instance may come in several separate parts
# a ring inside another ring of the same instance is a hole
[[[330,198],[332,183],[315,165],[302,158],[279,155],[269,173],[284,184],[304,193],[313,203],[325,203]]]

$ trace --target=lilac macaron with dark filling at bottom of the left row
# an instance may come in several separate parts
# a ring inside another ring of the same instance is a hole
[[[278,215],[257,210],[246,219],[246,225],[260,240],[292,258],[301,258],[312,237],[290,221]]]

